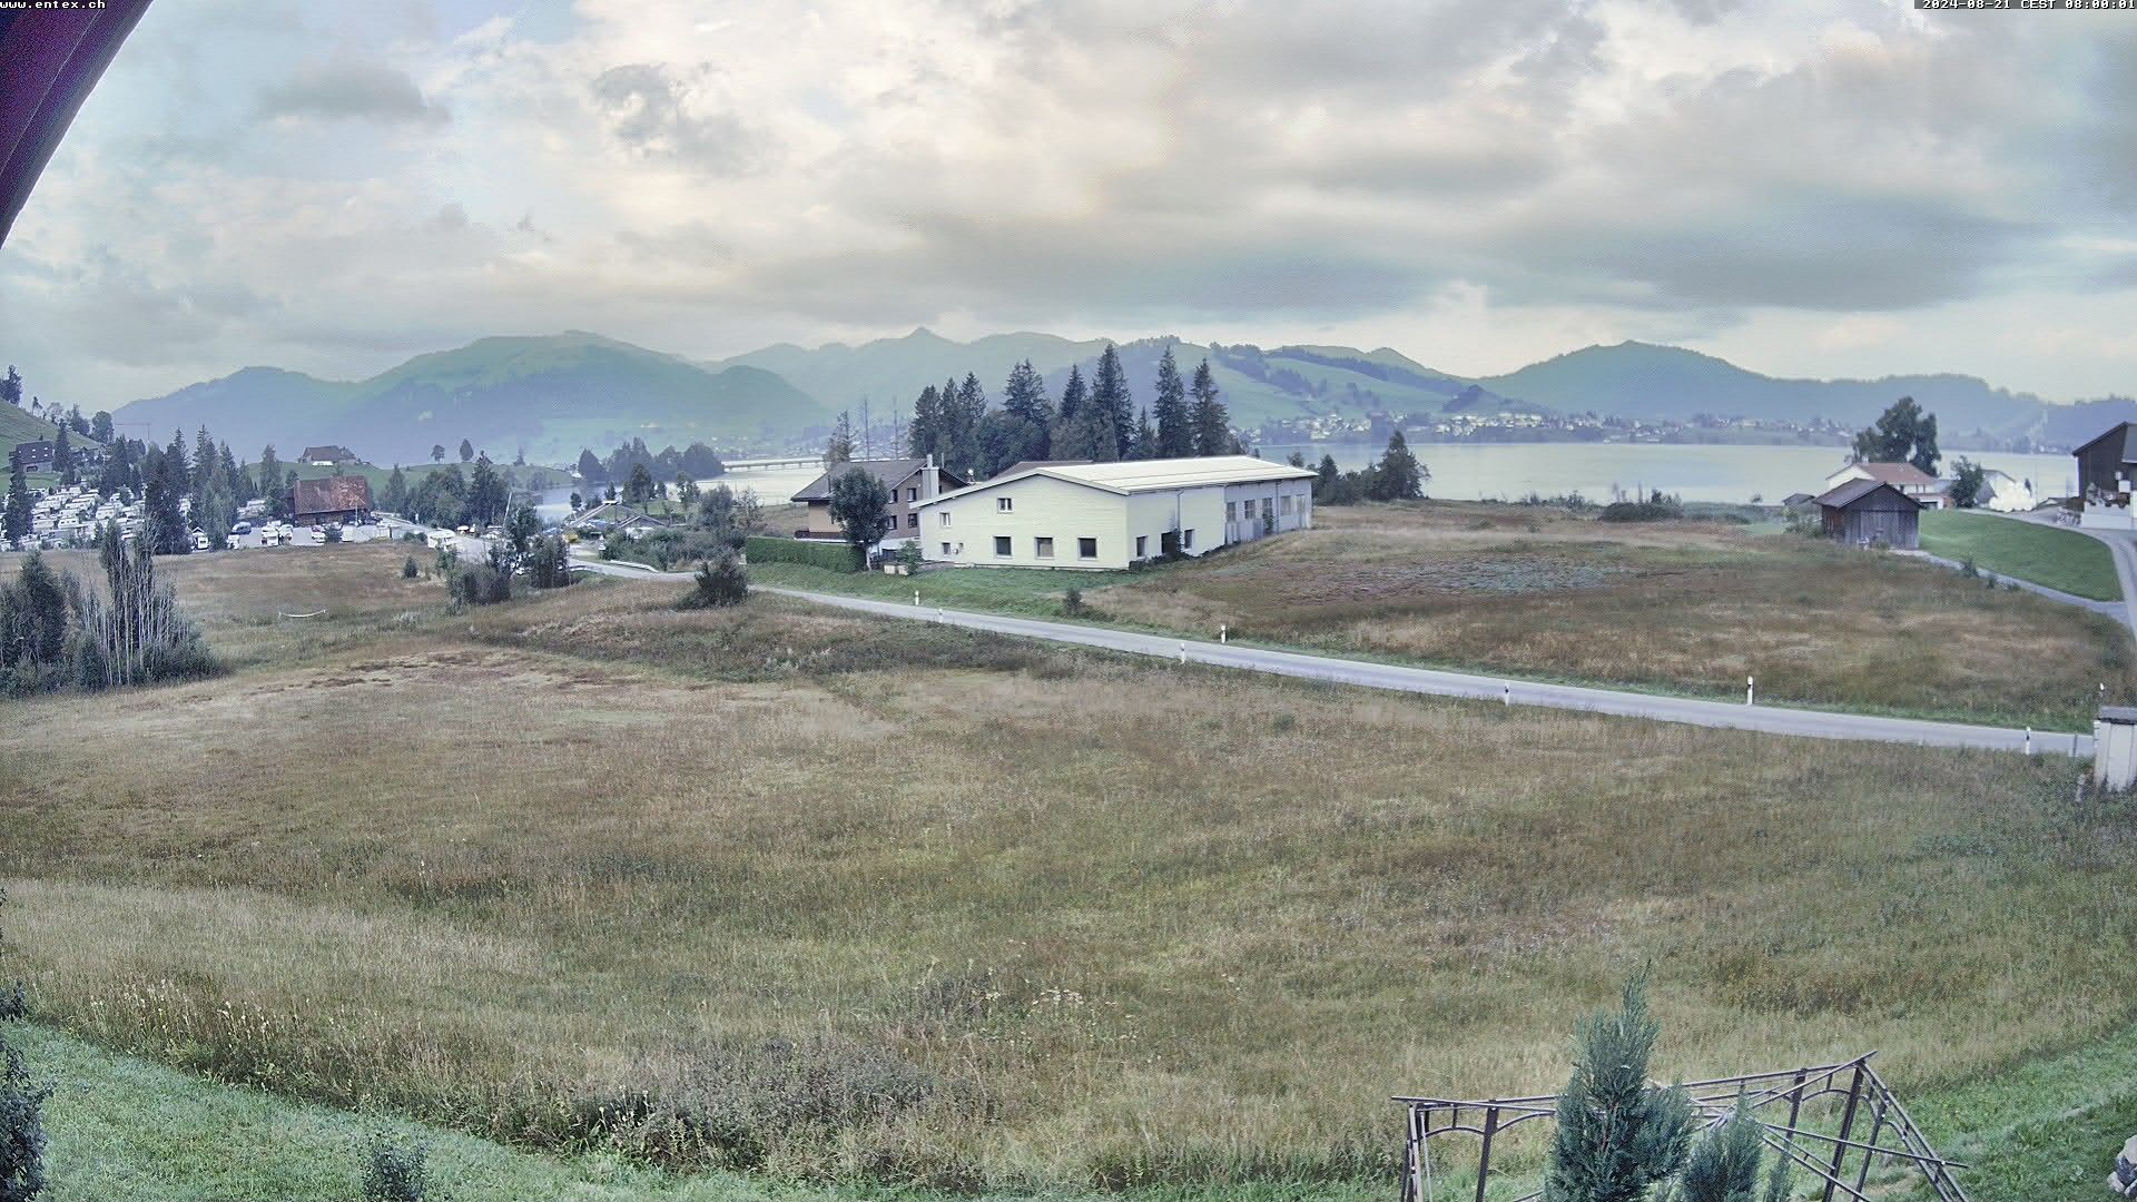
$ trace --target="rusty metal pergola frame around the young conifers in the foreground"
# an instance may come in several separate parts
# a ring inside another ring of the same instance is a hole
[[[1968,1202],[1951,1172],[1966,1166],[1936,1155],[1891,1087],[1870,1067],[1874,1054],[1831,1065],[1693,1080],[1678,1089],[1690,1097],[1701,1129],[1727,1123],[1742,1099],[1759,1123],[1759,1138],[1765,1140],[1765,1146],[1823,1185],[1821,1202],[1836,1198],[1872,1202],[1866,1189],[1870,1166],[1878,1161],[1902,1161],[1915,1168],[1938,1202]],[[1804,1123],[1804,1108],[1823,1097],[1834,1097],[1831,1108],[1840,1110],[1836,1134],[1816,1131]],[[1492,1144],[1522,1123],[1551,1121],[1558,1114],[1558,1097],[1547,1093],[1487,1099],[1395,1097],[1395,1101],[1408,1110],[1402,1202],[1445,1202],[1434,1191],[1430,1144],[1434,1138],[1455,1131],[1477,1136],[1475,1202],[1485,1202],[1485,1189],[1492,1183]],[[1857,1140],[1855,1123],[1866,1114],[1870,1136]],[[1851,1166],[1853,1172],[1849,1172]],[[1534,1202],[1537,1198],[1543,1193],[1526,1193],[1515,1202]]]

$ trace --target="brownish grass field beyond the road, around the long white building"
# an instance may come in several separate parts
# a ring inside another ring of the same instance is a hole
[[[1269,646],[1695,697],[1742,699],[1757,676],[1774,704],[2043,729],[2086,729],[2103,682],[2137,693],[2131,637],[2109,618],[1772,526],[1477,503],[1327,507],[1314,522],[1141,573],[752,575],[1026,616],[1060,616],[1075,586],[1088,620],[1192,637],[1222,625]]]

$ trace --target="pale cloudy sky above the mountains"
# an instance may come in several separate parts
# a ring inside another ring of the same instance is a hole
[[[1393,346],[2137,394],[2137,13],[156,0],[6,246],[115,409],[489,334]]]

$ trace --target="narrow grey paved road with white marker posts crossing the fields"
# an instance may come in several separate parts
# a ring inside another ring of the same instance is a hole
[[[630,569],[613,563],[575,560],[575,567],[603,575],[635,580],[686,582],[686,571]],[[923,586],[925,588],[925,586]],[[1299,654],[1289,650],[1263,650],[1250,646],[1214,644],[1199,639],[1177,639],[1167,635],[1143,635],[1113,631],[1105,627],[1083,627],[1075,622],[1045,622],[1039,618],[1009,618],[1000,614],[974,614],[968,610],[938,610],[932,605],[904,605],[895,601],[874,601],[865,597],[838,597],[831,592],[804,592],[797,588],[763,588],[784,597],[799,597],[818,605],[859,610],[889,618],[915,618],[1049,639],[1077,646],[1096,646],[1128,654],[1148,654],[1186,663],[1210,663],[1218,667],[1239,667],[1267,672],[1274,676],[1297,676],[1301,680],[1327,680],[1336,684],[1359,684],[1366,689],[1391,689],[1398,693],[1430,693],[1436,697],[1470,697],[1479,702],[1500,702],[1509,706],[1545,706],[1554,710],[1586,710],[1594,714],[1618,714],[1631,719],[1652,719],[1663,723],[1686,723],[1701,727],[1750,729],[1765,734],[1787,734],[1799,738],[1838,738],[1861,742],[1906,742],[1925,746],[1979,746],[1992,751],[2032,751],[2060,755],[2092,755],[2090,736],[2041,734],[2024,729],[1975,727],[1960,723],[1930,723],[1915,719],[1881,719],[1868,714],[1829,714],[1821,710],[1789,710],[1778,706],[1742,706],[1731,702],[1701,702],[1690,697],[1656,697],[1650,693],[1622,693],[1616,689],[1586,689],[1579,684],[1539,684],[1532,680],[1507,680],[1498,676],[1477,676],[1468,672],[1442,672],[1436,667],[1400,667],[1391,663],[1368,663],[1357,659],[1336,659],[1321,654]]]

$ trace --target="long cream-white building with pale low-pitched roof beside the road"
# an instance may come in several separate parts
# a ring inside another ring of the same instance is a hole
[[[934,563],[1122,569],[1312,526],[1314,473],[1252,456],[1034,466],[919,505]]]

